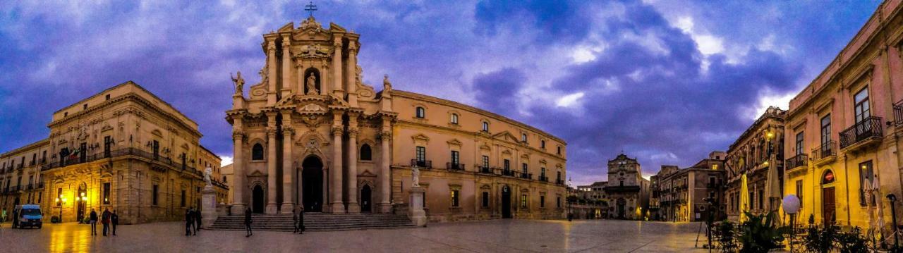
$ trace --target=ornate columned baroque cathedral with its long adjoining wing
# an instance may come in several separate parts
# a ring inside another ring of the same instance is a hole
[[[359,34],[312,16],[263,35],[259,83],[234,79],[231,213],[404,213],[412,167],[427,218],[560,219],[566,143],[458,102],[362,82]]]

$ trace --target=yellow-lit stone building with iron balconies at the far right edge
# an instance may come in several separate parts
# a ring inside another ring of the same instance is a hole
[[[879,5],[827,68],[790,101],[784,189],[800,197],[797,222],[812,216],[817,223],[874,228],[870,221],[883,219],[888,234],[886,196],[903,197],[901,23],[900,1]],[[898,213],[900,202],[895,203]]]

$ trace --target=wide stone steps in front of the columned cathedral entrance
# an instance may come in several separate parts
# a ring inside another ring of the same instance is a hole
[[[395,214],[304,213],[305,231],[381,230],[414,228],[407,217]],[[291,214],[254,215],[252,230],[293,231]],[[245,216],[219,216],[208,230],[245,230]]]

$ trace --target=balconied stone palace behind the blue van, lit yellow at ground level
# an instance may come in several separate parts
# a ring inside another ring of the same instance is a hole
[[[134,82],[53,113],[50,136],[0,155],[3,207],[34,203],[45,220],[83,220],[93,209],[121,222],[181,220],[200,208],[203,168],[219,201],[219,156],[200,145],[198,124]]]

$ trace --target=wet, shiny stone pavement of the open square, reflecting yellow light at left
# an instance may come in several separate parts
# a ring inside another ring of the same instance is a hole
[[[427,228],[306,232],[200,230],[184,223],[124,225],[116,237],[91,237],[88,225],[0,229],[3,252],[707,252],[694,248],[699,223],[630,220],[488,220]],[[703,229],[704,230],[704,229]],[[704,239],[703,235],[700,237]],[[700,246],[703,242],[700,241]]]

